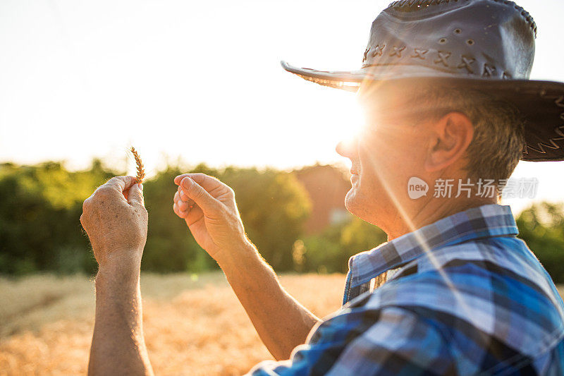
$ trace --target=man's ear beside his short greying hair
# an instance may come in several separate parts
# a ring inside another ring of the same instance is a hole
[[[439,171],[461,159],[474,137],[474,126],[468,116],[450,112],[431,124],[431,142],[425,169]]]

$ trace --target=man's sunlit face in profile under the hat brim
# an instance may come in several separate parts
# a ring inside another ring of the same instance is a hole
[[[425,179],[428,133],[424,122],[413,116],[417,109],[402,102],[399,92],[382,94],[362,99],[360,93],[365,125],[354,140],[337,146],[337,152],[352,162],[352,188],[345,206],[357,217],[379,225],[417,205],[407,195],[407,182],[412,176]]]

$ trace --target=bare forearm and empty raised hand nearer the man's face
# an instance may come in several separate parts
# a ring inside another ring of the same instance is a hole
[[[274,270],[245,236],[233,190],[212,176],[183,174],[174,183],[174,212],[214,257],[277,360],[288,359],[319,321],[280,285]]]

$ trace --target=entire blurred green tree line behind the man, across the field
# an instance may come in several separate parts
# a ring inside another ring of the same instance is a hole
[[[173,178],[192,171],[216,176],[233,188],[247,235],[278,272],[346,272],[351,255],[386,241],[384,231],[352,215],[319,234],[305,234],[312,200],[290,171],[169,165],[144,185],[149,212],[144,270],[217,269],[172,211]],[[68,171],[60,162],[0,164],[0,274],[94,274],[96,262],[79,220],[82,201],[121,174],[97,159],[82,171]],[[517,217],[517,225],[553,279],[563,283],[563,205],[533,205]]]

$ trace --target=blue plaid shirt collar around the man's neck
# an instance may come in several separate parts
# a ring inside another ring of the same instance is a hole
[[[519,233],[509,206],[483,205],[440,219],[349,259],[350,288],[433,250],[477,238]]]

